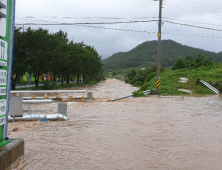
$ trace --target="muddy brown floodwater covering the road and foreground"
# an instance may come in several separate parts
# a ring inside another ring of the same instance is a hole
[[[87,88],[93,102],[68,102],[68,121],[10,123],[25,155],[9,170],[222,169],[221,96],[108,102],[136,89],[108,79]]]

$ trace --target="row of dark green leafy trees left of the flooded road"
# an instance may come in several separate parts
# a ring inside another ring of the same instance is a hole
[[[102,79],[103,65],[96,49],[69,41],[66,32],[16,28],[14,38],[12,89],[25,74],[35,78],[36,87],[40,76],[47,73],[54,81],[59,78],[62,85],[74,78],[77,83],[81,77],[84,82]]]

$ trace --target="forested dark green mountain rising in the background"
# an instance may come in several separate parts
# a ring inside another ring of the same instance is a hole
[[[152,67],[156,65],[157,41],[147,41],[128,52],[119,52],[103,60],[104,70],[113,71],[131,67]],[[161,65],[170,67],[180,57],[186,59],[192,56],[194,59],[198,54],[210,57],[213,62],[222,62],[222,52],[214,53],[198,48],[181,45],[172,40],[162,40]]]

